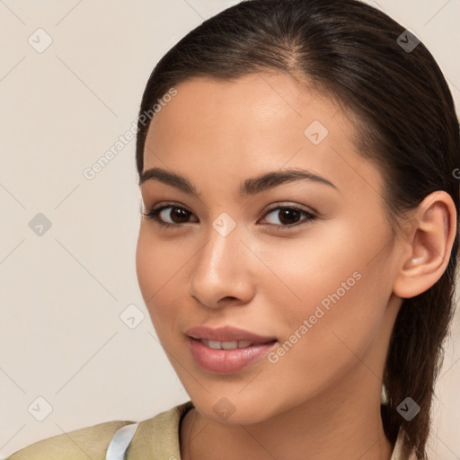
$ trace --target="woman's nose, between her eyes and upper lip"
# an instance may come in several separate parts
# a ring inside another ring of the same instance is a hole
[[[245,305],[254,295],[253,255],[237,228],[226,236],[211,228],[208,241],[193,259],[189,294],[208,308]]]

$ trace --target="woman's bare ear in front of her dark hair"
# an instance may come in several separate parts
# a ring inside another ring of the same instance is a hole
[[[418,296],[441,278],[457,226],[456,205],[447,192],[434,191],[423,199],[403,232],[403,256],[394,279],[396,296]]]

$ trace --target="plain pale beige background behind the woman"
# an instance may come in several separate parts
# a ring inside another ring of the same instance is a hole
[[[131,127],[164,52],[235,3],[0,0],[0,458],[188,400],[137,286],[135,142],[93,180],[83,172]],[[460,0],[377,3],[424,41],[458,104]],[[46,43],[39,28],[52,39],[41,53],[28,42]],[[29,226],[38,213],[52,224],[41,236]],[[119,317],[128,305],[136,324],[145,315],[134,329]],[[432,459],[460,458],[458,315],[454,332]]]

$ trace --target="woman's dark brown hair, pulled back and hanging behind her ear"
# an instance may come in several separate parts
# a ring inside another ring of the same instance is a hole
[[[393,229],[436,190],[452,197],[458,216],[460,140],[452,94],[423,43],[403,49],[404,32],[358,0],[245,0],[218,13],[176,43],[148,79],[137,122],[139,177],[151,122],[141,116],[174,85],[200,76],[230,81],[284,72],[356,119],[353,141],[381,168]],[[457,249],[458,226],[441,278],[403,299],[385,360],[385,436],[394,444],[401,429],[404,454],[420,460],[427,459],[434,385],[454,316]],[[420,406],[412,420],[397,411],[408,396]]]

